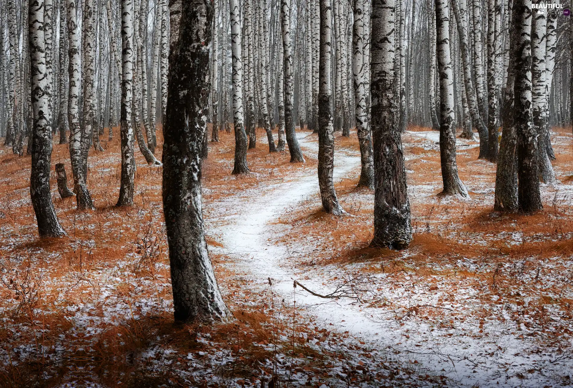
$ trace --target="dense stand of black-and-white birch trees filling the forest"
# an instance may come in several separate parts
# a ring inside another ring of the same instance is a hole
[[[288,148],[292,163],[305,161],[296,127],[317,133],[321,200],[334,215],[344,213],[332,179],[334,133],[357,136],[359,184],[375,189],[374,246],[406,248],[412,238],[401,144],[409,126],[439,130],[442,195],[468,197],[456,136],[477,138],[478,158],[497,163],[494,208],[536,211],[540,182],[555,180],[551,128],[573,117],[573,22],[562,16],[565,7],[559,0],[0,0],[0,136],[15,155],[32,155],[30,192],[43,237],[65,234],[50,197],[54,136],[69,144],[77,208],[93,209],[91,148],[105,153],[119,136],[117,205],[129,206],[135,142],[148,164],[161,165],[156,131],[163,129],[175,315],[222,317],[228,311],[201,216],[201,163],[220,132],[234,131],[236,174],[249,172],[248,149],[261,147],[257,128],[268,151]],[[62,165],[57,177],[62,197],[72,195]]]

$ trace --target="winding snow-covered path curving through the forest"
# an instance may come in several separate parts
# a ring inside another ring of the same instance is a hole
[[[309,140],[309,133],[297,135],[305,153],[316,154],[317,143]],[[346,151],[344,155],[337,153],[335,157],[335,179],[346,177],[360,168],[357,152]],[[267,279],[272,278],[273,289],[280,292],[287,301],[292,301],[295,296],[293,280],[301,280],[305,275],[309,278],[301,281],[305,286],[322,294],[328,293],[323,284],[324,274],[311,270],[301,276],[289,264],[292,252],[286,246],[275,243],[285,233],[285,228],[288,228],[284,224],[275,223],[278,217],[308,197],[317,196],[318,192],[317,176],[312,173],[285,176],[284,180],[278,180],[276,184],[264,184],[250,189],[242,193],[241,197],[218,200],[210,207],[216,208],[219,216],[215,220],[207,220],[206,232],[221,242],[223,247],[210,247],[210,250],[231,258],[234,270],[253,279],[258,287],[266,287]],[[336,271],[336,268],[324,268],[324,271]],[[383,276],[379,280],[383,285],[381,287],[387,288]],[[425,284],[420,284],[418,288],[422,287],[425,289]],[[392,291],[387,292],[390,295]],[[417,300],[427,298],[421,294],[426,292],[418,290],[417,294],[411,295],[414,306],[415,303],[434,304],[431,300]],[[469,292],[468,298],[472,296],[472,292]],[[544,357],[549,354],[530,354],[528,350],[532,348],[533,342],[515,338],[516,335],[510,332],[507,324],[488,327],[490,336],[476,336],[473,334],[479,329],[474,327],[474,323],[457,322],[456,334],[452,336],[452,328],[435,328],[415,319],[406,320],[405,323],[394,322],[388,320],[385,312],[379,308],[366,308],[351,303],[351,299],[335,301],[318,298],[300,288],[296,292],[296,306],[305,307],[310,314],[317,316],[319,322],[332,323],[339,331],[350,331],[356,337],[376,343],[378,349],[390,346],[388,358],[399,357],[402,362],[419,360],[423,367],[448,376],[459,382],[460,386],[542,387],[547,384],[547,378],[555,373],[554,370],[549,375],[536,374],[524,380],[505,378],[508,369],[511,369],[508,373],[519,371],[520,374],[532,366],[553,369],[550,365],[555,362],[555,356]],[[401,356],[394,356],[392,352],[395,350]]]

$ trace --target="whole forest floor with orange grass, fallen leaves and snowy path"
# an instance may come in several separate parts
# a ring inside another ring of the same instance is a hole
[[[356,188],[355,133],[335,138],[340,217],[321,211],[316,134],[299,130],[307,161],[291,164],[258,132],[252,172],[232,176],[234,137],[221,133],[203,206],[236,319],[201,327],[172,320],[161,167],[136,149],[136,204],[116,208],[116,130],[89,156],[96,211],[61,200],[53,174],[68,237],[40,241],[30,157],[1,148],[0,386],[572,386],[573,147],[554,131],[559,182],[524,216],[493,211],[496,166],[477,160],[477,141],[457,141],[470,199],[439,196],[438,133],[410,128],[415,233],[399,252],[368,247],[374,194]],[[60,162],[70,176],[68,146],[54,144]]]

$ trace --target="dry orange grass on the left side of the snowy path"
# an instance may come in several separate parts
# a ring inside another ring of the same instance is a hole
[[[2,386],[28,387],[36,386],[38,382],[45,387],[55,386],[61,383],[58,378],[46,380],[38,377],[39,374],[52,370],[57,376],[69,373],[70,367],[77,369],[88,365],[92,369],[96,367],[94,373],[110,386],[115,386],[126,375],[131,376],[128,385],[132,386],[138,385],[138,381],[151,381],[151,385],[154,382],[157,385],[171,384],[174,382],[172,379],[178,377],[167,374],[165,378],[155,381],[155,377],[142,375],[144,364],[132,363],[129,357],[136,357],[158,336],[164,337],[160,345],[175,344],[179,349],[199,349],[193,330],[174,326],[171,313],[166,312],[165,308],[143,311],[136,306],[139,298],[157,300],[166,306],[171,303],[169,260],[162,225],[162,168],[148,166],[136,145],[134,206],[116,208],[121,156],[118,128],[114,132],[112,141],[103,140],[107,134],[102,137],[105,152],[95,152],[93,149],[89,152],[88,187],[96,205],[95,211],[78,212],[74,197],[60,199],[55,174],[52,173],[50,184],[54,208],[68,233],[67,237],[61,239],[40,240],[37,237],[36,221],[29,200],[30,157],[14,156],[7,148],[0,150],[0,264],[5,271],[0,276],[6,282],[4,285],[0,283],[0,316],[4,318],[0,324],[0,342],[14,359],[18,356],[10,349],[16,349],[19,345],[34,344],[34,347],[53,349],[59,343],[70,347],[63,350],[64,359],[59,359],[56,366],[51,365],[50,360],[61,355],[52,352],[50,359],[34,358],[0,371]],[[222,195],[235,195],[265,180],[288,179],[316,168],[316,160],[309,156],[306,157],[307,163],[293,164],[289,163],[288,151],[269,154],[268,145],[264,143],[264,131],[258,129],[257,135],[262,141],[256,149],[249,150],[247,156],[253,173],[245,176],[231,175],[234,157],[232,133],[221,132],[221,141],[209,143],[210,155],[203,165],[203,187],[209,192],[203,196],[205,204]],[[161,160],[163,138],[160,130],[157,136],[156,157]],[[276,133],[274,137],[276,141]],[[72,185],[68,144],[54,143],[52,170],[56,163],[66,165],[68,185]],[[211,246],[221,246],[209,236],[207,242]],[[219,258],[213,257],[213,263],[219,280],[235,276],[217,265]],[[127,272],[117,272],[119,268]],[[121,280],[102,279],[101,274],[108,272]],[[139,280],[134,283],[135,279]],[[101,287],[108,283],[114,285],[113,294],[108,298],[117,298],[118,302],[129,304],[131,319],[125,320],[123,314],[118,313],[109,316],[110,322],[103,322],[103,309],[107,307],[99,298]],[[231,283],[233,287],[241,287],[240,282]],[[233,294],[226,296],[231,309],[236,308],[236,298],[242,300]],[[90,303],[96,306],[88,314],[93,314],[93,325],[99,332],[78,338],[70,331],[75,311],[79,306]],[[239,323],[238,339],[240,346],[248,349],[248,354],[252,355],[243,363],[244,370],[248,370],[254,360],[264,360],[272,355],[272,352],[269,354],[262,348],[254,349],[249,343],[253,339],[258,342],[277,339],[284,328],[278,320],[270,322],[269,315],[265,315],[268,309],[236,314],[240,314],[239,322],[245,322]],[[273,331],[273,324],[278,331]],[[203,327],[201,330],[212,331],[220,346],[228,349],[231,342],[237,341],[233,337],[233,332],[237,330],[233,331],[232,327],[227,326],[229,324]],[[18,336],[13,335],[14,327],[22,327],[18,329]],[[38,336],[40,331],[42,334]],[[87,345],[89,349],[74,353],[73,349]],[[93,362],[94,357],[100,361]],[[66,358],[71,361],[66,361]],[[123,361],[116,362],[115,359]]]

